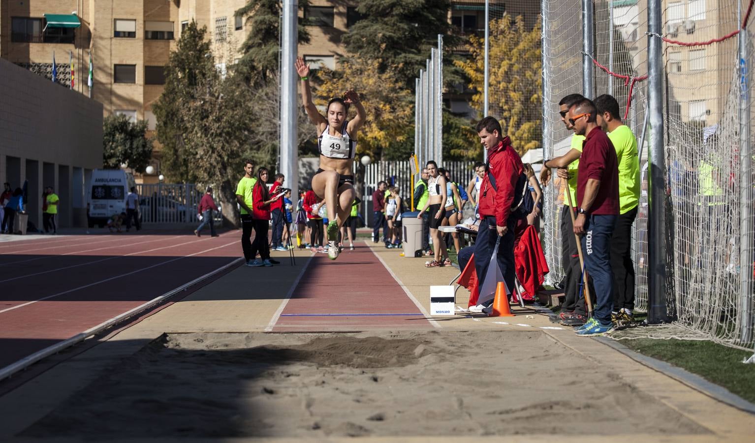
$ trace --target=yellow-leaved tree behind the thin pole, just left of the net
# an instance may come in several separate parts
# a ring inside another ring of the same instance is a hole
[[[542,146],[541,22],[528,30],[521,16],[490,22],[488,109],[519,155]],[[455,62],[470,78],[472,106],[482,115],[485,39],[470,37],[472,57]]]

